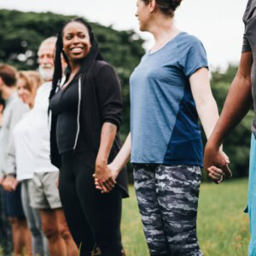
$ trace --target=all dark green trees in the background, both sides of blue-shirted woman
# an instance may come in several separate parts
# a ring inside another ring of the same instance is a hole
[[[49,12],[23,13],[0,9],[2,27],[0,30],[0,62],[9,63],[18,69],[36,69],[39,44],[44,38],[55,35],[64,21],[73,18],[75,16],[56,15]],[[121,80],[124,113],[120,132],[124,139],[130,131],[129,78],[144,54],[144,42],[133,31],[115,31],[111,26],[90,24],[98,38],[102,55],[116,68]],[[223,108],[236,70],[236,66],[230,65],[225,73],[221,73],[218,69],[212,72],[212,93],[218,103],[219,112]],[[230,156],[230,168],[234,177],[247,176],[252,120],[253,110],[224,142],[224,151]],[[205,138],[204,141],[206,141]],[[131,170],[131,166],[129,168]]]

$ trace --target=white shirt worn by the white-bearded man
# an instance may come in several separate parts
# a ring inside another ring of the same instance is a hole
[[[33,124],[31,126],[32,148],[35,172],[56,172],[49,159],[49,92],[51,82],[42,84],[37,90],[34,108],[32,108]]]

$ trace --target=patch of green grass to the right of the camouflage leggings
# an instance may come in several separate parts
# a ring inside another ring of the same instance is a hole
[[[197,234],[205,256],[247,255],[247,179],[201,185]]]

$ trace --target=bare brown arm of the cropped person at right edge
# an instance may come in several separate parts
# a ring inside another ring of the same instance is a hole
[[[247,114],[253,104],[251,69],[253,65],[252,52],[241,55],[240,66],[236,77],[230,85],[230,90],[224,103],[223,111],[218,123],[212,132],[205,148],[204,166],[207,170],[210,166],[217,166],[224,172],[226,169],[223,155],[218,148],[241,119]]]

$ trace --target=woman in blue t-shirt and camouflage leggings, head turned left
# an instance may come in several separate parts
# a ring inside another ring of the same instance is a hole
[[[152,33],[155,43],[131,74],[131,133],[106,176],[96,179],[96,188],[108,192],[131,157],[150,255],[202,255],[196,237],[203,157],[198,116],[208,138],[218,108],[203,45],[174,25],[181,1],[137,0],[140,30]],[[222,176],[221,170],[212,173]]]

